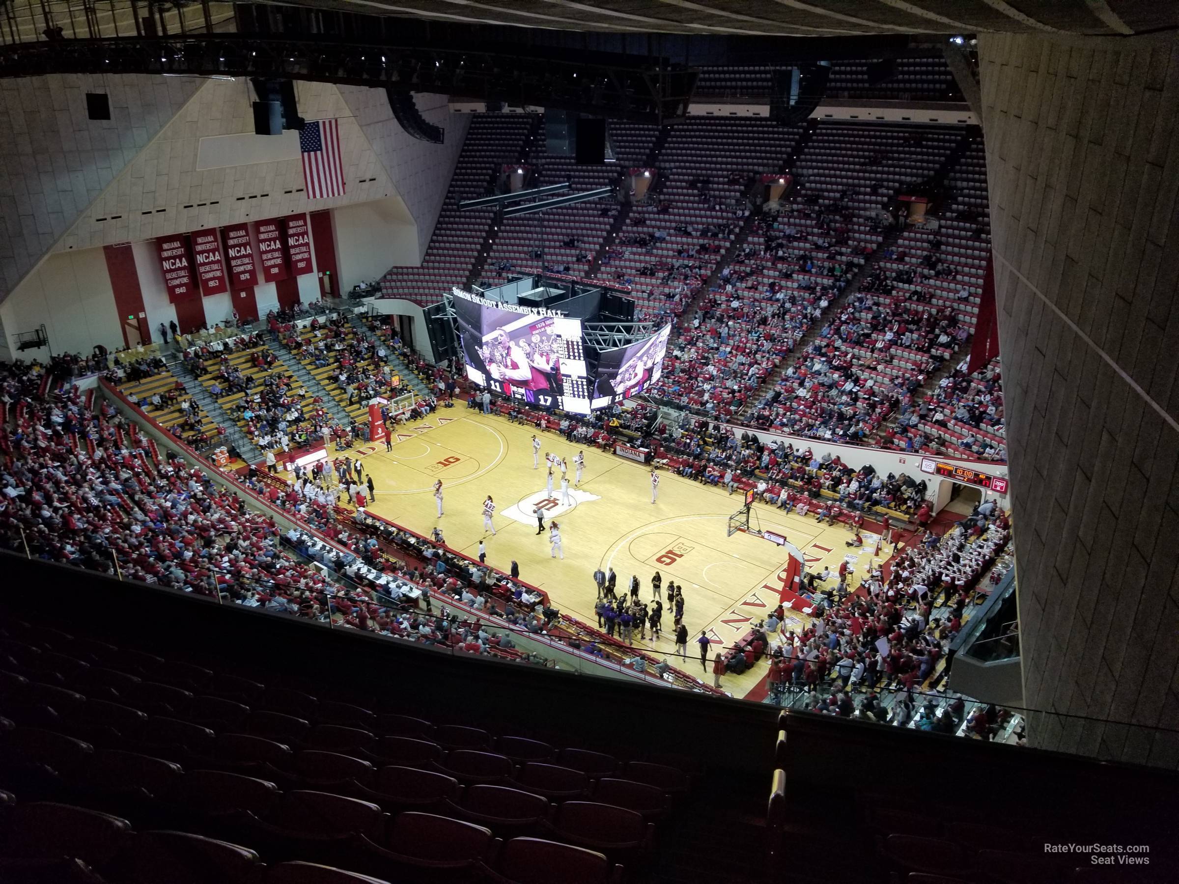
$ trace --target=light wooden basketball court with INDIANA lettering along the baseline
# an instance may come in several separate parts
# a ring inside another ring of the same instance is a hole
[[[520,576],[544,588],[562,612],[595,624],[597,588],[593,572],[613,567],[618,593],[631,575],[638,575],[644,601],[651,600],[651,576],[663,575],[683,587],[684,622],[689,629],[689,659],[677,661],[671,605],[664,593],[664,634],[658,640],[635,639],[635,646],[687,672],[700,673],[698,646],[705,629],[713,653],[730,646],[763,620],[783,596],[789,552],[776,542],[738,532],[729,534],[730,516],[744,501],[724,488],[704,486],[665,470],[659,471],[659,496],[651,502],[650,469],[595,448],[578,448],[555,433],[536,433],[541,441],[540,468],[533,469],[533,428],[499,416],[485,416],[457,405],[442,409],[408,425],[389,428],[393,450],[384,444],[351,449],[373,476],[376,500],[369,509],[428,535],[439,527],[447,546],[477,558],[486,539],[487,563],[509,570],[512,560]],[[585,454],[581,484],[573,487],[573,456]],[[571,503],[561,502],[560,471],[554,489],[546,489],[545,453],[564,457],[568,467]],[[439,519],[433,487],[443,482],[444,515]],[[496,510],[492,536],[483,530],[482,502],[492,495]],[[536,534],[533,515],[546,509],[544,534]],[[560,523],[565,558],[553,559],[548,543],[551,520]],[[844,556],[857,586],[872,561],[876,535],[864,534],[864,547],[845,546],[845,526],[819,525],[810,514],[798,516],[755,503],[750,527],[772,532],[802,552],[808,572],[830,567],[832,574]],[[837,578],[829,581],[835,586]],[[788,612],[788,628],[801,628],[809,618]],[[638,632],[635,632],[638,635]],[[711,654],[710,654],[711,657]],[[737,697],[747,693],[765,675],[758,662],[742,675],[725,675],[722,687]],[[709,675],[711,679],[711,660]]]

